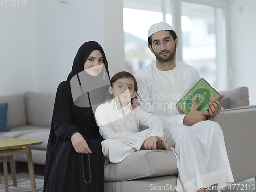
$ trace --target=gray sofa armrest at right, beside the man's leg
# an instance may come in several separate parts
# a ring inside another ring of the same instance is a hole
[[[234,180],[256,176],[256,105],[225,110],[209,117],[223,130]]]

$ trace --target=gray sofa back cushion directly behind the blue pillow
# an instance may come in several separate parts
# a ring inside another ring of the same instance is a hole
[[[21,94],[7,95],[0,97],[0,103],[8,102],[7,126],[23,126],[27,124],[25,100]]]

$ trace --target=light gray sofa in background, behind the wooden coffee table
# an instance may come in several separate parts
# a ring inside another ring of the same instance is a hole
[[[44,141],[40,145],[31,146],[34,164],[45,164],[54,101],[54,94],[33,92],[0,97],[0,103],[8,102],[7,126],[11,130],[0,132],[0,138]],[[27,162],[26,155],[14,155],[14,160]]]

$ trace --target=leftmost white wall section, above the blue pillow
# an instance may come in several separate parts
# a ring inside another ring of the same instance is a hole
[[[0,95],[36,90],[35,3],[0,6]]]

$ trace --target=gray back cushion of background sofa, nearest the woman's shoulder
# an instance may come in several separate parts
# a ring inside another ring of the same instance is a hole
[[[55,94],[25,92],[28,124],[50,127]]]

